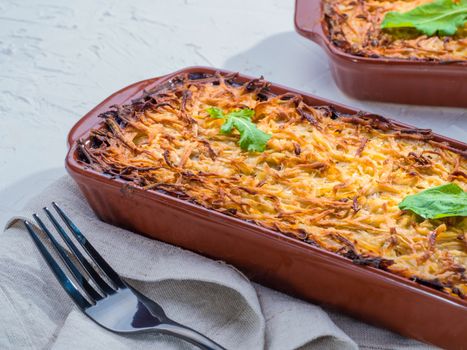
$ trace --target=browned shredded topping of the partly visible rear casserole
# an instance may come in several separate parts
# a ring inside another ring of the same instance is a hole
[[[382,30],[387,12],[407,12],[432,0],[325,0],[331,42],[358,56],[435,61],[467,60],[467,24],[452,36],[420,34],[414,29]]]

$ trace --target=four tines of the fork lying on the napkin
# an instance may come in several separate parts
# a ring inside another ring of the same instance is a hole
[[[86,258],[84,254],[81,253],[73,240],[67,234],[66,230],[62,225],[60,225],[54,214],[48,208],[43,208],[43,210],[52,225],[55,227],[55,230],[70,249],[71,254],[67,253],[65,249],[58,243],[57,239],[40,219],[40,217],[37,214],[33,214],[33,218],[37,225],[46,234],[52,246],[54,247],[54,250],[58,253],[62,262],[67,267],[78,286],[84,292],[83,295],[76,287],[75,283],[73,283],[73,281],[64,273],[63,269],[49,252],[48,248],[44,245],[42,238],[40,237],[41,235],[36,233],[34,225],[32,225],[27,220],[24,221],[26,229],[28,230],[33,242],[39,249],[41,255],[44,257],[49,267],[52,269],[55,277],[73,299],[73,301],[81,309],[86,309],[94,305],[99,300],[114,294],[119,288],[126,288],[124,282],[120,279],[118,274],[109,266],[109,264],[102,258],[96,249],[94,249],[91,243],[89,243],[86,237],[63,212],[63,210],[55,202],[52,202],[52,206],[67,226],[68,230],[73,234],[75,240],[81,245],[87,255],[98,267],[97,269],[94,268],[88,258]],[[101,274],[104,277],[102,277]],[[108,283],[105,279],[110,281],[110,283]],[[93,284],[90,283],[91,281]]]

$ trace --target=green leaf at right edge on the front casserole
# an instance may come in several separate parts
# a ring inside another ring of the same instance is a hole
[[[411,210],[425,219],[467,216],[467,192],[448,183],[405,197],[399,209]]]

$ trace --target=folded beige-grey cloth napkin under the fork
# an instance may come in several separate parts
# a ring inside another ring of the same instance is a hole
[[[103,223],[65,176],[32,199],[0,234],[1,349],[194,348],[166,335],[108,332],[74,307],[18,220],[40,213],[52,201],[117,272],[160,303],[169,317],[228,349],[426,347],[252,283],[224,262]]]

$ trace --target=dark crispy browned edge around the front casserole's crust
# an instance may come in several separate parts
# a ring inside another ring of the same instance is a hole
[[[173,77],[169,81],[167,81],[164,84],[161,84],[159,86],[156,86],[153,89],[150,90],[143,90],[141,96],[139,98],[133,99],[131,101],[131,104],[126,104],[122,106],[111,106],[111,110],[106,111],[104,113],[101,113],[99,115],[100,118],[104,120],[103,123],[100,124],[98,128],[94,128],[93,130],[96,129],[102,129],[105,128],[108,124],[106,121],[109,119],[117,121],[120,125],[124,125],[124,120],[119,117],[119,111],[122,111],[122,109],[126,108],[131,108],[136,111],[143,111],[145,108],[149,108],[151,106],[154,106],[154,102],[156,99],[154,98],[158,94],[163,94],[164,92],[174,89],[180,84],[186,84],[189,82],[193,82],[196,84],[216,84],[219,82],[220,79],[224,79],[226,83],[229,83],[233,86],[240,86],[244,85],[250,93],[257,93],[258,97],[260,99],[268,99],[273,96],[279,96],[283,98],[284,100],[290,100],[290,99],[295,99],[297,101],[297,106],[299,103],[303,103],[303,97],[299,94],[296,93],[284,93],[282,95],[275,95],[269,90],[270,83],[264,80],[263,77],[257,78],[257,79],[252,79],[250,81],[247,81],[244,84],[241,84],[236,81],[236,78],[238,76],[238,73],[232,73],[232,74],[227,74],[227,75],[221,75],[220,73],[215,73],[215,74],[207,74],[207,73],[185,73],[185,74],[180,74],[178,76]],[[156,102],[157,103],[157,102]],[[396,125],[393,121],[390,119],[387,119],[383,116],[377,115],[377,114],[372,114],[372,113],[367,113],[360,111],[356,114],[347,114],[347,113],[341,113],[337,111],[333,106],[330,105],[318,105],[318,106],[312,106],[313,108],[320,109],[321,111],[324,112],[325,117],[333,118],[333,119],[340,119],[343,122],[347,123],[353,123],[353,124],[360,124],[360,125],[365,125],[369,126],[373,129],[381,130],[381,131],[393,131],[394,134],[396,135],[397,138],[403,138],[403,139],[415,139],[415,140],[421,140],[428,142],[432,144],[433,146],[448,149],[452,152],[460,154],[462,157],[467,158],[467,150],[460,150],[458,148],[452,147],[447,143],[444,142],[438,142],[433,140],[434,136],[433,133],[430,129],[419,129],[419,128],[409,128],[409,127],[403,127]],[[298,109],[297,109],[298,110]],[[316,121],[313,119],[311,115],[309,115],[307,112],[299,111],[299,113],[302,115],[302,118],[307,120],[308,122],[315,124]],[[93,162],[92,155],[89,154],[89,152],[86,150],[85,145],[88,143],[92,142],[90,137],[88,136],[85,139],[79,139],[77,141],[77,160],[80,164],[82,164],[85,168],[90,168],[90,164]],[[118,178],[121,179],[125,182],[128,183],[129,187],[138,187],[141,188],[141,186],[138,186],[137,184],[134,183],[135,178],[133,177],[128,177],[126,174],[116,174],[116,173],[109,173],[109,172],[102,172],[103,175],[109,176],[110,178]],[[463,174],[463,176],[467,177],[466,174]],[[176,197],[178,199],[186,200],[188,202],[191,202],[193,204],[201,206],[199,203],[196,202],[195,199],[189,197],[185,193],[182,193],[180,191],[177,191],[175,189],[170,189],[167,186],[152,186],[149,189],[146,189],[148,191],[156,191],[160,192],[163,194],[167,194],[173,197]],[[206,208],[202,206],[203,208]],[[213,210],[211,208],[206,208],[208,210]],[[219,212],[219,211],[216,211]],[[222,214],[225,214],[227,216],[233,216],[237,219],[238,217],[235,216],[235,213],[230,213],[229,211],[222,211],[220,212]],[[242,220],[242,219],[240,219]],[[253,222],[251,220],[244,220],[250,223],[254,223],[258,225],[258,223]],[[259,226],[259,225],[258,225]],[[300,239],[303,242],[316,246],[320,249],[323,249],[327,251],[326,249],[320,247],[316,242],[307,239],[306,236],[304,236],[303,239],[300,237],[297,237],[295,235],[292,235],[288,232],[282,232],[280,230],[277,230],[278,232],[285,234],[289,237],[295,238],[295,239]],[[367,266],[372,266],[381,270],[387,270],[387,267],[392,265],[392,260],[384,259],[381,257],[374,257],[374,256],[367,256],[367,255],[361,255],[358,254],[354,249],[352,249],[352,245],[349,245],[349,250],[343,254],[342,256],[350,259],[353,263],[357,265],[367,265]],[[413,281],[433,288],[438,291],[442,291],[444,293],[447,293],[445,288],[451,289],[453,293],[457,294],[461,299],[464,299],[465,296],[456,288],[451,288],[450,286],[441,283],[438,279],[433,279],[433,280],[426,280],[426,279],[421,279],[418,277],[413,277],[411,278]],[[456,291],[457,290],[457,291]]]

